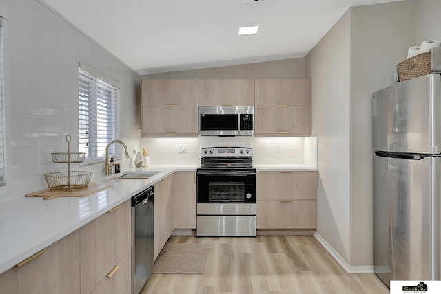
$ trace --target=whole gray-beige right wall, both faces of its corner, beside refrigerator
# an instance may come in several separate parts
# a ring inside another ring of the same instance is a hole
[[[440,38],[439,11],[432,0],[351,8],[305,58],[319,138],[317,232],[349,271],[373,263],[371,93],[393,84],[409,47]]]

